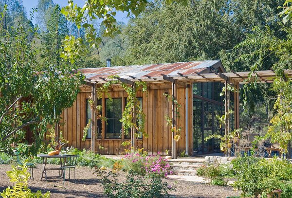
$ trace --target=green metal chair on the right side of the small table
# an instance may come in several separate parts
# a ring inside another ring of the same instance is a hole
[[[78,163],[78,158],[79,155],[67,155],[64,154],[64,163],[60,167],[59,170],[59,179],[60,179],[60,172],[62,171],[63,173],[63,184],[65,182],[65,176],[66,176],[66,169],[69,169],[69,180],[70,180],[70,175],[71,175],[71,168],[74,169],[74,180],[76,181],[76,165]]]

